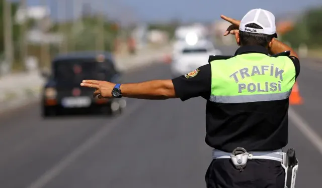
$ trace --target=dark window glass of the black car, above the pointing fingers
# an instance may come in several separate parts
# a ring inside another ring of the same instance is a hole
[[[54,78],[57,85],[78,85],[83,80],[106,80],[106,62],[95,60],[60,60],[54,63]]]

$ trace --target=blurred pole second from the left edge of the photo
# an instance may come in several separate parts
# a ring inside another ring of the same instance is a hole
[[[28,56],[28,43],[27,43],[27,25],[28,25],[28,15],[27,15],[27,4],[26,0],[20,0],[21,10],[23,10],[23,22],[20,28],[20,63],[25,67],[25,63]]]

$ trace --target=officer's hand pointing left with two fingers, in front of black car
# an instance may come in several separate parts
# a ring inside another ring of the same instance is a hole
[[[115,84],[106,81],[99,80],[83,80],[82,87],[94,88],[96,91],[93,93],[93,97],[112,98],[112,90]]]

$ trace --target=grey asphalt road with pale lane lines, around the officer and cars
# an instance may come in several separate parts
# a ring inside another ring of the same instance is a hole
[[[319,187],[322,64],[301,64],[304,103],[291,107],[287,147],[295,147],[300,161],[296,187]],[[158,64],[128,73],[125,80],[170,76],[169,65]],[[206,101],[127,102],[124,114],[113,118],[44,120],[38,103],[0,115],[0,187],[205,187],[211,161],[204,143]]]

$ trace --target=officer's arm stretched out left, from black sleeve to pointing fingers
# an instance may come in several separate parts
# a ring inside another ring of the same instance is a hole
[[[98,80],[84,80],[82,87],[96,89],[94,97],[112,98],[116,84]],[[195,71],[172,80],[152,80],[140,83],[121,84],[122,96],[137,99],[163,100],[180,98],[182,101],[202,96],[209,98],[211,87],[210,65],[199,67]]]

